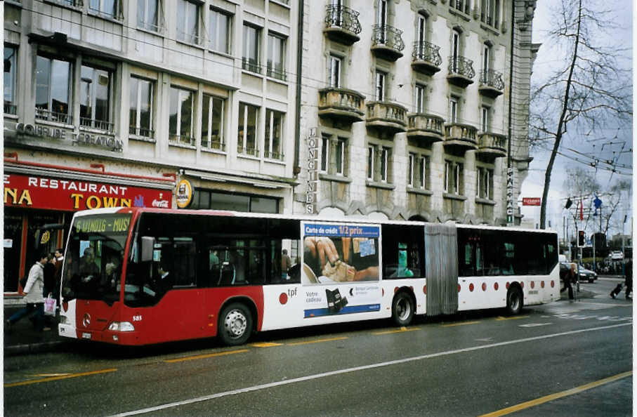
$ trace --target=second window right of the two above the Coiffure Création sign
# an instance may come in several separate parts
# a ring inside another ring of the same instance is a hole
[[[169,143],[195,145],[195,91],[171,86]]]

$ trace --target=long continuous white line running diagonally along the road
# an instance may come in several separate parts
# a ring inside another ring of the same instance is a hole
[[[534,336],[532,338],[508,340],[506,342],[491,343],[490,345],[481,345],[481,346],[473,346],[472,348],[447,350],[445,352],[431,353],[429,355],[420,355],[420,356],[414,356],[414,357],[407,357],[405,359],[396,359],[396,360],[388,361],[388,362],[379,362],[379,363],[376,363],[376,364],[369,364],[369,365],[364,365],[364,366],[355,366],[353,368],[337,369],[336,371],[329,371],[329,372],[324,372],[324,373],[315,373],[314,375],[301,376],[300,378],[292,378],[292,379],[289,379],[289,380],[280,380],[280,381],[273,382],[273,383],[254,385],[252,387],[239,388],[237,390],[230,390],[230,391],[225,391],[225,392],[218,392],[216,394],[211,394],[211,395],[204,395],[203,397],[185,399],[183,401],[169,402],[167,404],[161,404],[161,405],[158,405],[158,406],[152,406],[152,407],[148,407],[148,408],[145,408],[145,409],[126,411],[124,413],[115,414],[114,416],[120,416],[120,417],[136,416],[138,414],[152,413],[153,411],[171,409],[173,407],[184,406],[184,405],[188,405],[188,404],[195,404],[197,402],[210,401],[211,399],[228,397],[230,395],[243,394],[245,392],[254,392],[254,391],[258,391],[258,390],[267,390],[268,388],[280,387],[282,385],[301,383],[301,382],[304,382],[304,381],[307,381],[307,380],[325,378],[327,376],[341,375],[343,373],[365,371],[367,369],[376,369],[376,368],[382,368],[383,366],[392,366],[392,365],[398,365],[398,364],[405,364],[405,363],[409,363],[409,362],[421,361],[423,359],[431,359],[431,358],[434,358],[434,357],[443,357],[443,356],[449,356],[449,355],[457,355],[458,353],[473,352],[474,350],[498,348],[500,346],[515,345],[516,343],[525,343],[525,342],[531,342],[531,341],[534,341],[534,340],[556,338],[556,337],[560,337],[560,336],[570,336],[572,334],[577,334],[577,333],[586,333],[586,332],[589,332],[589,331],[613,329],[615,327],[630,326],[630,325],[631,325],[630,323],[622,323],[622,324],[612,324],[610,326],[593,327],[591,329],[565,331],[565,332],[562,332],[562,333],[553,333],[553,334],[547,334],[547,335],[544,335],[544,336]]]

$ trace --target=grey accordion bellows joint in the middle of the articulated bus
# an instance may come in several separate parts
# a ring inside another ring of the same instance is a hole
[[[458,246],[455,225],[425,226],[427,315],[458,310]]]

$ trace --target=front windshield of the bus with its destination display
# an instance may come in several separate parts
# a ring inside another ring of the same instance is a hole
[[[97,214],[74,219],[62,281],[63,301],[119,300],[131,214]]]

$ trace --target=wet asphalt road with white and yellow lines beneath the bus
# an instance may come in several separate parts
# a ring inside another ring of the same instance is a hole
[[[616,282],[600,280],[599,293]],[[622,293],[622,298],[624,294]],[[7,416],[631,416],[632,305],[610,297],[137,350],[7,357]],[[507,411],[507,410],[505,410]],[[509,409],[508,411],[511,411]]]

